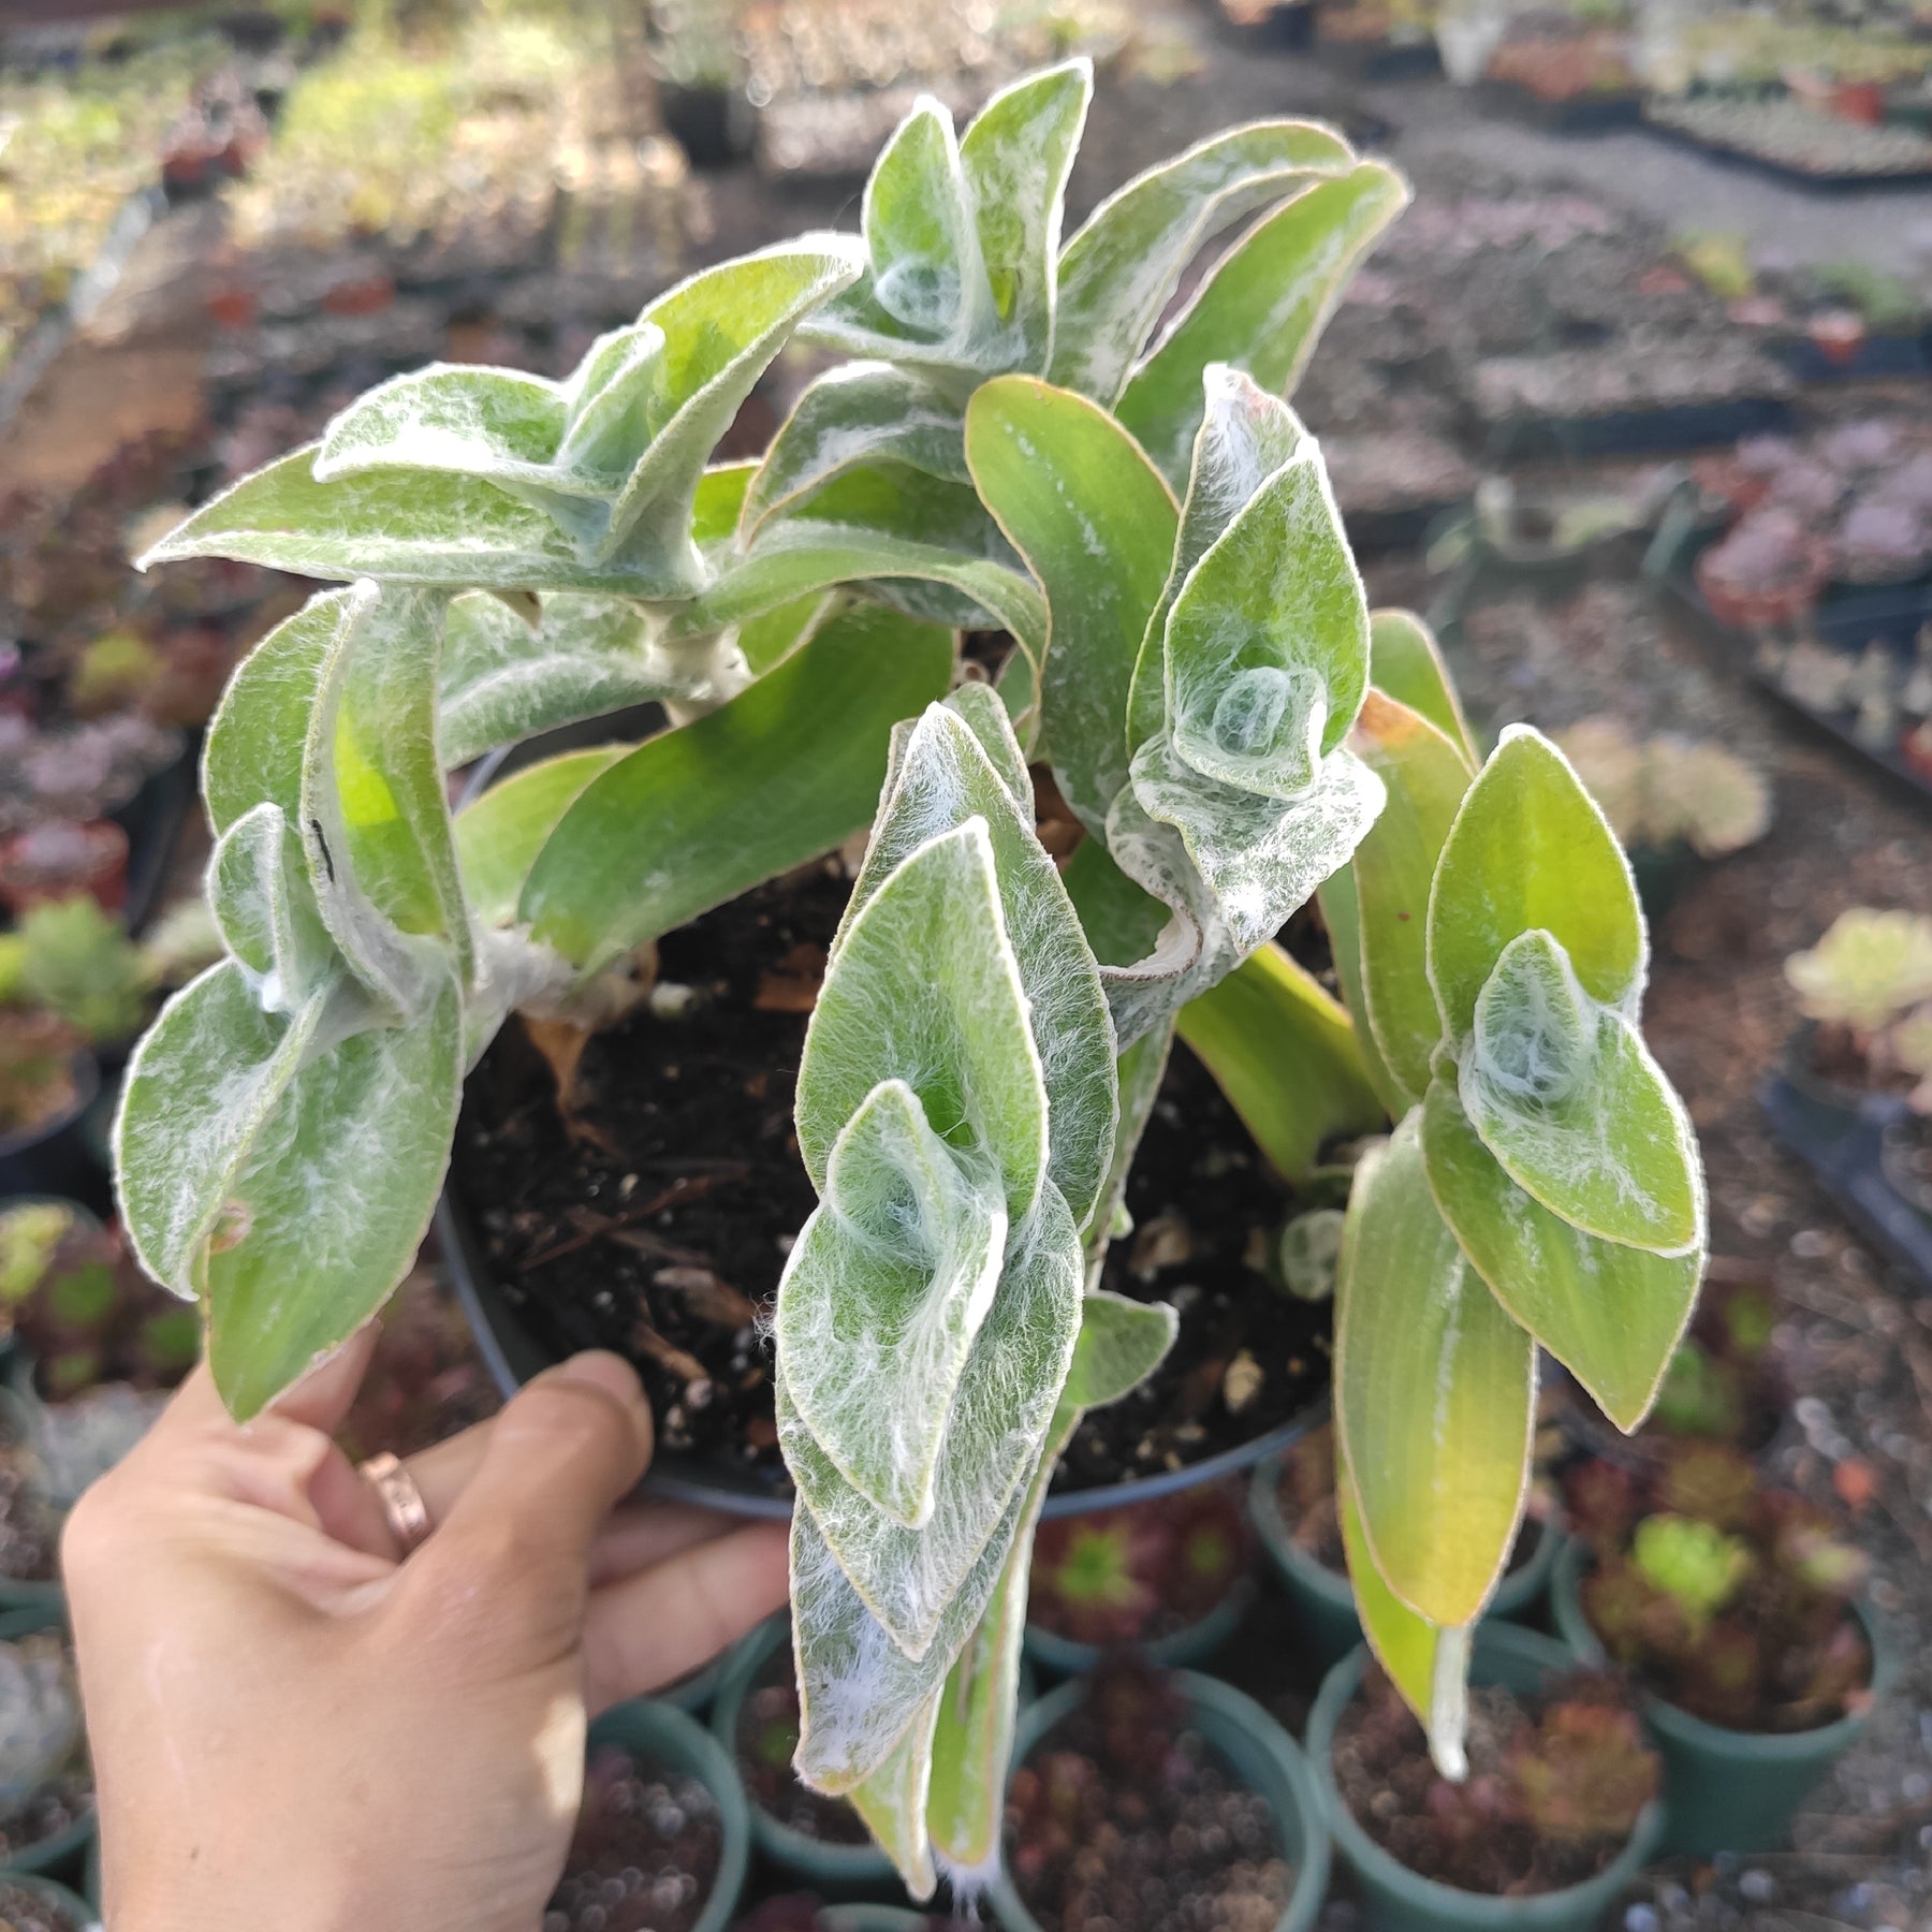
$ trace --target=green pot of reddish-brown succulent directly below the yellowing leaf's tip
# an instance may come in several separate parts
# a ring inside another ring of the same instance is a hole
[[[1629,1692],[1548,1636],[1486,1625],[1470,1706],[1470,1774],[1449,1783],[1368,1652],[1321,1685],[1308,1754],[1368,1922],[1588,1932],[1663,1832]]]

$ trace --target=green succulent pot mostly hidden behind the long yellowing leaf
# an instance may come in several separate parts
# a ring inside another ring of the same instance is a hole
[[[1333,1428],[1321,1424],[1256,1464],[1248,1519],[1289,1592],[1306,1656],[1321,1671],[1331,1669],[1362,1642],[1335,1495]],[[1534,1619],[1563,1540],[1548,1499],[1524,1515],[1484,1615]]]

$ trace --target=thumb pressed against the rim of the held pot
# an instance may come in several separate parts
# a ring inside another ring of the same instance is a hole
[[[597,1530],[649,1461],[651,1410],[636,1370],[614,1354],[572,1356],[491,1424],[483,1461],[419,1567],[587,1588]]]

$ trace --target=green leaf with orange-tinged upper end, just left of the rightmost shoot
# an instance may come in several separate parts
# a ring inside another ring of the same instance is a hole
[[[1412,1107],[1430,1086],[1441,1014],[1428,976],[1430,885],[1470,771],[1420,713],[1372,690],[1349,740],[1389,798],[1354,852],[1362,1010]]]

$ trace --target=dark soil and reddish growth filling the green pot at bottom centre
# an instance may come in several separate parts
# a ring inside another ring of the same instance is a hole
[[[1294,1882],[1267,1801],[1128,1667],[1014,1772],[1007,1868],[1043,1932],[1269,1932]]]

